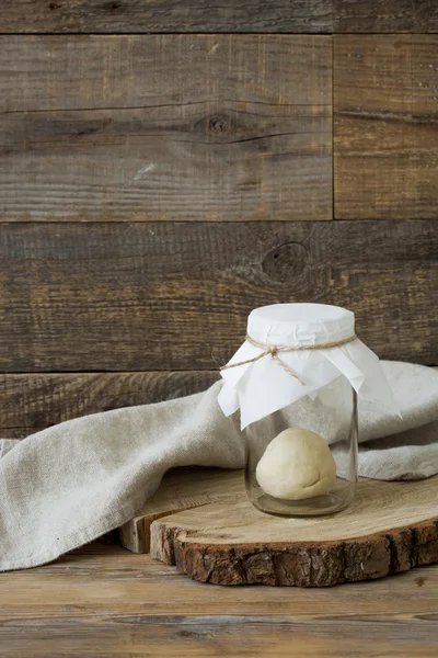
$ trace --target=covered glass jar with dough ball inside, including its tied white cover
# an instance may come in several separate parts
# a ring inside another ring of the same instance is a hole
[[[354,313],[325,304],[256,308],[221,376],[219,405],[227,416],[240,409],[251,502],[285,517],[346,508],[357,481],[357,392],[393,405],[378,356],[355,334]]]

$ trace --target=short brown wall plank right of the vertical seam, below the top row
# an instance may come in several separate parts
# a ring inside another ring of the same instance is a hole
[[[334,38],[335,217],[438,216],[438,36]]]

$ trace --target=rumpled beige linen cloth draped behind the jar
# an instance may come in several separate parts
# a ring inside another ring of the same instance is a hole
[[[438,372],[382,362],[403,420],[359,400],[359,470],[377,479],[438,473]],[[163,474],[241,468],[244,441],[206,393],[69,420],[0,441],[0,570],[48,563],[132,518]],[[306,405],[296,402],[297,424]],[[438,486],[437,486],[438,489]],[[438,510],[438,490],[437,490]]]

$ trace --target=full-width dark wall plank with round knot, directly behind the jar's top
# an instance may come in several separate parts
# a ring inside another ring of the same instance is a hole
[[[252,308],[303,300],[434,364],[437,252],[433,220],[2,225],[0,370],[217,370]]]

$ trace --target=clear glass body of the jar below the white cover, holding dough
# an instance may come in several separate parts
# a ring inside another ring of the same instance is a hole
[[[281,517],[321,515],[351,502],[357,396],[344,376],[313,398],[301,398],[251,423],[244,435],[246,491],[258,510]]]

